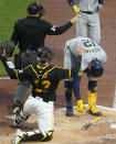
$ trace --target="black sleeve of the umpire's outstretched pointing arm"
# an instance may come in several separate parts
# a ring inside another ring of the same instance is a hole
[[[62,26],[52,25],[51,23],[46,22],[46,34],[49,35],[59,35],[66,32],[73,24],[68,21]]]

